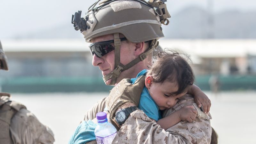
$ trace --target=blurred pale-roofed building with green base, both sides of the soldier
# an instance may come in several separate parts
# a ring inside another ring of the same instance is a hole
[[[229,89],[256,89],[256,40],[253,39],[160,39],[162,48],[191,56],[196,83],[209,90],[211,75],[218,75]],[[1,40],[9,72],[0,71],[4,91],[100,92],[110,90],[92,66],[88,43],[83,39]],[[246,80],[247,79],[247,80]],[[234,81],[235,80],[235,81]],[[246,84],[241,83],[241,80]],[[250,82],[250,81],[255,81]],[[238,84],[236,84],[238,83]],[[244,85],[237,87],[236,85]]]

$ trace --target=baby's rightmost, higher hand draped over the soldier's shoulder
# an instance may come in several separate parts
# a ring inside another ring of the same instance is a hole
[[[209,113],[211,107],[211,100],[201,90],[194,94],[194,99],[199,108],[203,106],[204,113]]]

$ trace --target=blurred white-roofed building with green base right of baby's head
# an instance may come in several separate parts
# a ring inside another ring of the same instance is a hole
[[[255,39],[165,39],[160,44],[190,54],[202,90],[211,89],[212,79],[219,90],[256,90]]]

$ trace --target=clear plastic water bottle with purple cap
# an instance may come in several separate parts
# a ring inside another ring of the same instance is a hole
[[[98,125],[94,131],[97,144],[111,144],[116,136],[116,128],[108,123],[107,114],[99,112],[96,114]]]

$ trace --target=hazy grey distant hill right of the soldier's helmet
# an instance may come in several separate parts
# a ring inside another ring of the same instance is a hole
[[[163,31],[167,38],[208,38],[209,31],[212,38],[256,38],[255,17],[256,12],[220,12],[212,16],[212,27],[209,27],[207,11],[188,7],[172,15]]]

